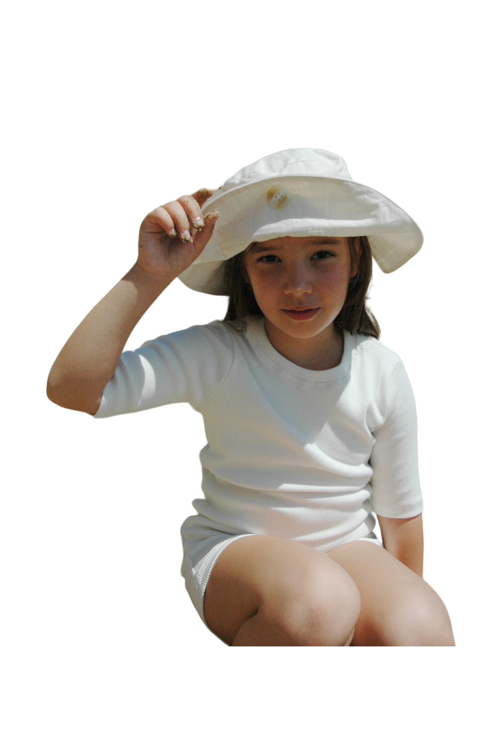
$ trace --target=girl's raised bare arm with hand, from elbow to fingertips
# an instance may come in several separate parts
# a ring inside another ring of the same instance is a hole
[[[202,253],[218,212],[202,219],[213,194],[198,189],[151,210],[138,233],[137,259],[97,302],[60,349],[47,378],[47,397],[64,409],[96,414],[131,333],[171,283]]]

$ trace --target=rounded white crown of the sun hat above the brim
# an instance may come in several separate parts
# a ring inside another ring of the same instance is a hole
[[[284,176],[324,176],[353,181],[349,166],[343,157],[324,147],[288,147],[285,150],[263,155],[254,163],[236,171],[218,187],[229,191],[256,181]]]

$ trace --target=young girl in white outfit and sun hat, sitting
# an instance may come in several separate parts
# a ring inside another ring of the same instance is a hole
[[[180,574],[226,646],[455,645],[423,579],[413,388],[367,304],[372,260],[392,273],[422,246],[342,156],[279,150],[149,212],[136,262],[51,367],[48,398],[97,420],[202,415]],[[223,321],[124,351],[175,279],[225,295]]]

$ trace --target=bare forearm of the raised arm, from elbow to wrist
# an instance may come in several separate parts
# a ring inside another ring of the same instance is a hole
[[[48,374],[48,398],[60,407],[94,414],[131,333],[171,283],[149,276],[135,263],[66,340]]]

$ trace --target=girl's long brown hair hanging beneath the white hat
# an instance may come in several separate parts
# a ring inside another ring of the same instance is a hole
[[[358,262],[356,239],[361,243],[361,256]],[[373,286],[373,259],[368,237],[348,237],[350,260],[358,264],[357,275],[350,279],[349,288],[343,308],[334,321],[334,326],[350,333],[365,333],[381,339],[382,331],[374,312],[368,305]],[[239,253],[225,263],[226,313],[223,321],[237,330],[245,330],[247,315],[263,315],[254,299],[245,269],[245,253]]]

